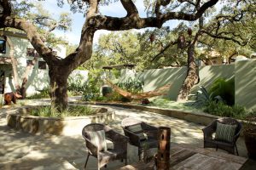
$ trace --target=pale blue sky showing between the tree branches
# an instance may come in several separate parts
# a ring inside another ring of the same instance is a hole
[[[59,16],[61,12],[70,11],[68,4],[64,5],[63,8],[60,8],[57,6],[56,1],[53,1],[53,0],[45,0],[45,1],[41,1],[40,3],[42,3],[44,8],[47,9],[49,13],[55,17]],[[146,17],[146,14],[144,12],[143,0],[137,0],[135,4],[137,6],[140,16]],[[116,3],[111,3],[108,6],[100,7],[100,12],[104,15],[115,16],[115,17],[124,17],[126,15],[125,8],[123,8],[122,4],[119,1]],[[54,32],[57,36],[64,37],[65,39],[67,39],[68,42],[72,44],[79,44],[81,30],[85,20],[84,14],[81,14],[81,13],[73,14],[72,12],[70,12],[70,14],[73,19],[72,31],[66,31],[66,32],[54,31]],[[177,20],[171,20],[166,22],[164,26],[170,26],[170,28],[173,28],[177,26],[177,24],[178,24]],[[139,31],[143,31],[143,29]],[[98,38],[100,37],[100,35],[108,34],[109,32],[110,31],[105,31],[105,30],[96,31],[95,37],[94,37],[94,43],[98,42]]]

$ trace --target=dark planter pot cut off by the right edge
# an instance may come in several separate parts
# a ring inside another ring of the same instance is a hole
[[[251,112],[245,120],[243,134],[247,146],[247,155],[249,158],[256,160],[256,111]]]

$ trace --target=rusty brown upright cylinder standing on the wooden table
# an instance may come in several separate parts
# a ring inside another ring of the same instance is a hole
[[[157,169],[158,170],[169,170],[170,167],[170,138],[171,128],[170,127],[159,127],[158,133],[158,153],[157,153]]]

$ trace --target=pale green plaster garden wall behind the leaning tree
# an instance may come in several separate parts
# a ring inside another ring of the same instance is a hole
[[[176,100],[177,94],[187,73],[186,67],[153,69],[137,73],[137,77],[144,82],[144,92],[154,90],[172,82],[168,94],[164,97]],[[247,109],[256,110],[256,61],[244,60],[231,65],[207,65],[199,68],[200,82],[191,91],[195,94],[199,86],[210,88],[212,82],[222,77],[235,77],[236,105],[243,105]],[[125,74],[121,75],[124,79]],[[163,96],[162,96],[163,97]]]

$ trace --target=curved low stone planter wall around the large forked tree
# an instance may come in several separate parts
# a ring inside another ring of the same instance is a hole
[[[7,124],[17,130],[27,133],[50,133],[56,135],[81,134],[85,125],[98,122],[112,122],[115,113],[111,111],[97,113],[94,116],[69,116],[67,118],[28,116],[28,112],[35,106],[19,109],[15,113],[7,114]]]

